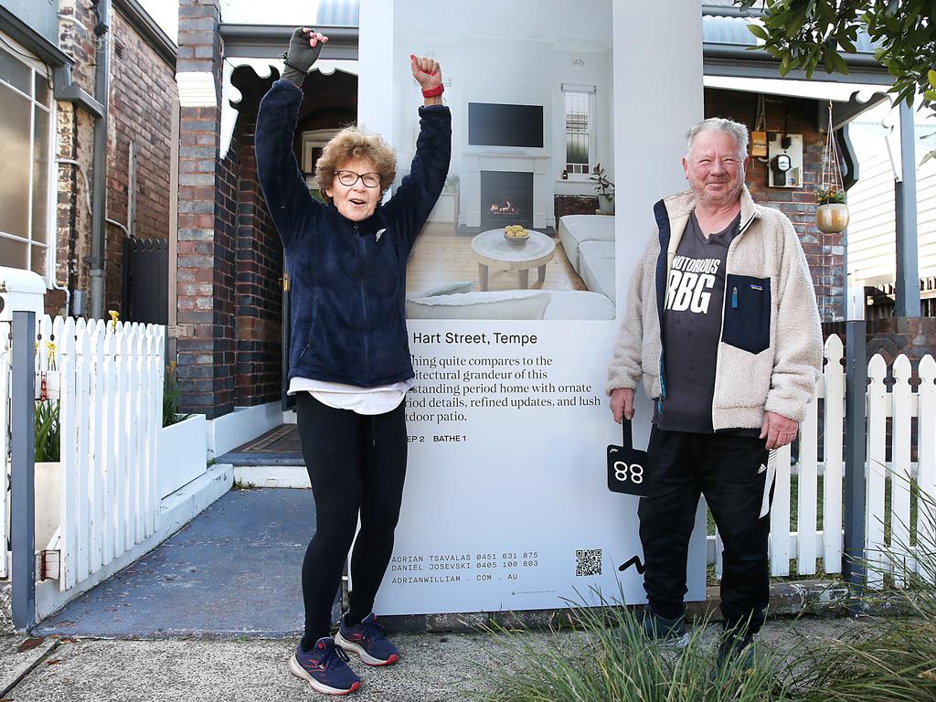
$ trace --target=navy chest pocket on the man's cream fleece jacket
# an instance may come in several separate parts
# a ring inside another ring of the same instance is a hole
[[[759,354],[770,345],[770,279],[728,274],[722,341]]]

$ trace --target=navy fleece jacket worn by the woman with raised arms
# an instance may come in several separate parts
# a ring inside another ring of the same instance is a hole
[[[406,260],[442,192],[451,115],[419,108],[410,174],[367,219],[309,194],[293,154],[302,92],[277,80],[256,117],[256,169],[283,240],[292,302],[289,377],[373,388],[412,378],[403,308]]]

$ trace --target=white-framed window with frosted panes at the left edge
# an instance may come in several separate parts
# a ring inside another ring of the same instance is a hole
[[[47,278],[51,87],[45,66],[0,39],[0,265]]]

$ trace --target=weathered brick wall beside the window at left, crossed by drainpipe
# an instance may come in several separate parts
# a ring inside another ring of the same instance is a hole
[[[89,0],[61,0],[59,42],[75,60],[72,80],[95,95],[95,16]],[[127,225],[129,199],[128,152],[137,147],[137,192],[134,234],[168,236],[168,172],[171,101],[177,95],[175,70],[169,66],[116,10],[110,16],[110,110],[106,214]],[[71,103],[57,103],[57,154],[80,163],[58,166],[55,274],[60,285],[88,293],[87,256],[91,255],[91,212],[88,186],[93,183],[94,128],[92,114]],[[120,310],[125,235],[105,225],[105,310]],[[86,298],[87,300],[87,298]],[[65,295],[50,291],[46,308],[57,314]],[[85,313],[90,310],[85,310]]]

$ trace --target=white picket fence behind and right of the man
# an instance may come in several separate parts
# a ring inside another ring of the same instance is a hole
[[[821,560],[827,574],[841,572],[845,383],[842,344],[838,336],[833,335],[826,340],[825,357],[826,364],[816,384],[815,398],[800,424],[796,465],[791,466],[790,446],[777,451],[770,519],[772,576],[791,575],[791,559],[796,559],[796,575],[815,574],[817,560]],[[930,533],[931,522],[925,517],[918,519],[919,529],[914,529],[911,534],[911,481],[916,481],[919,490],[918,514],[932,512],[931,507],[924,504],[925,495],[936,500],[936,360],[926,356],[920,361],[916,392],[910,385],[911,365],[905,356],[899,356],[894,362],[892,375],[895,382],[891,391],[885,385],[886,375],[884,358],[875,355],[868,364],[865,505],[865,543],[870,562],[868,583],[872,588],[883,584],[885,571],[891,572],[895,584],[901,585],[907,573],[918,571],[914,559],[915,545],[936,546],[936,534]],[[824,419],[823,461],[818,460],[820,402]],[[914,417],[917,418],[917,461],[912,463],[911,428]],[[885,460],[888,418],[891,419],[891,461]],[[795,525],[787,528],[794,477],[797,519]],[[889,510],[886,509],[888,493]],[[821,529],[818,525],[820,505]],[[885,523],[890,533],[886,542]],[[718,534],[709,536],[709,563],[715,563],[716,575],[721,578],[722,543]]]

